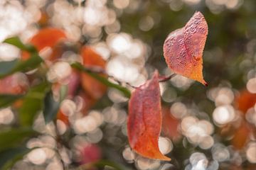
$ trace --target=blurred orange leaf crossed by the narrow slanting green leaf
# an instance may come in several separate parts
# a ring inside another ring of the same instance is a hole
[[[82,47],[81,50],[83,65],[85,67],[99,67],[105,69],[105,60],[102,59],[91,47]],[[107,86],[86,73],[82,73],[82,88],[92,98],[101,98],[107,91]]]

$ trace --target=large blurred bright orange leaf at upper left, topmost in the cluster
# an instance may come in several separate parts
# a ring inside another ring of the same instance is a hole
[[[55,47],[58,45],[61,40],[66,39],[65,32],[58,28],[43,28],[39,30],[39,32],[29,40],[29,43],[34,45],[38,52],[43,50],[45,47]],[[59,50],[59,49],[56,49]],[[55,58],[55,50],[53,49],[52,55],[50,55],[49,60],[53,60]],[[28,52],[22,52],[21,59],[27,60],[30,57]]]

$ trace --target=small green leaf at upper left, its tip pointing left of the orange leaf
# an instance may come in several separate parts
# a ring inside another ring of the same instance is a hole
[[[4,42],[14,45],[21,50],[25,50],[28,52],[37,52],[36,48],[33,47],[33,45],[24,45],[23,42],[21,42],[21,39],[19,39],[18,37],[7,38],[6,40],[4,40]]]

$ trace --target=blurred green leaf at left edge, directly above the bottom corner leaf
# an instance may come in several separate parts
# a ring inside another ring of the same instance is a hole
[[[0,132],[0,151],[14,145],[21,145],[21,142],[31,135],[36,134],[31,128],[18,128],[1,130]]]

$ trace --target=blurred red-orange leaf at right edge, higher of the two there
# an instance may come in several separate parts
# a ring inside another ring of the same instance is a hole
[[[241,91],[240,95],[235,98],[235,105],[240,111],[246,113],[249,108],[255,106],[256,94],[251,94],[247,90]]]

